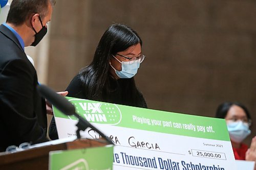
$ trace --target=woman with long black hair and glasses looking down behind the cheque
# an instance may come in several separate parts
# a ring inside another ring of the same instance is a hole
[[[145,59],[141,46],[142,40],[134,30],[118,23],[111,25],[102,35],[92,63],[71,81],[68,96],[147,108],[134,80]],[[49,136],[58,138],[54,118]]]

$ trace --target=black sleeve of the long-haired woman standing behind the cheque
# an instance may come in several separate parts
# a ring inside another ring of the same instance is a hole
[[[73,98],[86,99],[82,87],[83,83],[79,79],[79,76],[75,76],[66,89],[69,92],[68,96]],[[52,117],[51,124],[49,127],[49,137],[52,140],[59,138],[54,117]]]

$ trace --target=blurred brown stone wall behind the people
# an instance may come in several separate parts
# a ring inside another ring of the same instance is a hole
[[[135,79],[149,108],[214,117],[220,103],[238,101],[256,123],[255,16],[252,0],[59,0],[35,65],[44,63],[42,83],[65,90],[103,32],[125,23],[143,40]]]

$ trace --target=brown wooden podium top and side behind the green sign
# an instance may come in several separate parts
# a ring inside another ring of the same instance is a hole
[[[106,144],[104,140],[77,139],[5,154],[0,156],[0,169],[48,169],[50,151],[103,147]]]

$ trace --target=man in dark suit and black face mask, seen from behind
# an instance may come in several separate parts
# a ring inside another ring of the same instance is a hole
[[[53,0],[13,0],[0,26],[0,152],[9,145],[47,141],[46,103],[24,52],[47,32]]]

